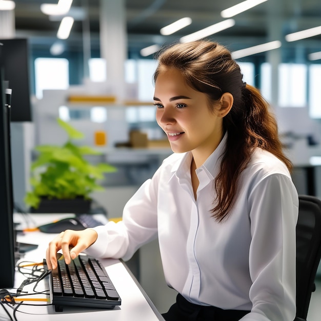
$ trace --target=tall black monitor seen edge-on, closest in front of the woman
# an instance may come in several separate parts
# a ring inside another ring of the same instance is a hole
[[[6,100],[4,70],[0,68],[0,288],[12,288],[14,284],[12,193],[10,109]]]

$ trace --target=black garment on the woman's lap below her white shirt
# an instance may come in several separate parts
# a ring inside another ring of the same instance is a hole
[[[182,295],[177,294],[176,303],[162,315],[166,321],[238,321],[249,312],[200,306],[188,302]]]

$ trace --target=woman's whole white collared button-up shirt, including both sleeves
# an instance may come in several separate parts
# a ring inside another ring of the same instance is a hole
[[[87,253],[127,260],[158,237],[166,282],[190,302],[251,310],[242,321],[292,321],[296,189],[284,163],[256,149],[228,219],[216,222],[213,181],[225,144],[226,136],[196,169],[196,200],[192,154],[172,154],[128,201],[121,222],[95,228]]]

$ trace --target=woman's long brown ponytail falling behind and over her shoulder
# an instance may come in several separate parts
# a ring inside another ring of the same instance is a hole
[[[271,152],[289,170],[292,169],[290,160],[283,153],[277,123],[268,103],[250,85],[242,88],[242,101],[243,106],[234,108],[223,121],[228,138],[220,171],[214,181],[217,199],[212,210],[213,217],[219,222],[228,216],[234,204],[240,173],[248,166],[254,148]]]

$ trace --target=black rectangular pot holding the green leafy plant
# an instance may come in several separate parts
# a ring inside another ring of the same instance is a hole
[[[73,199],[58,199],[43,197],[37,209],[31,207],[31,213],[89,213],[91,199],[76,197]]]

